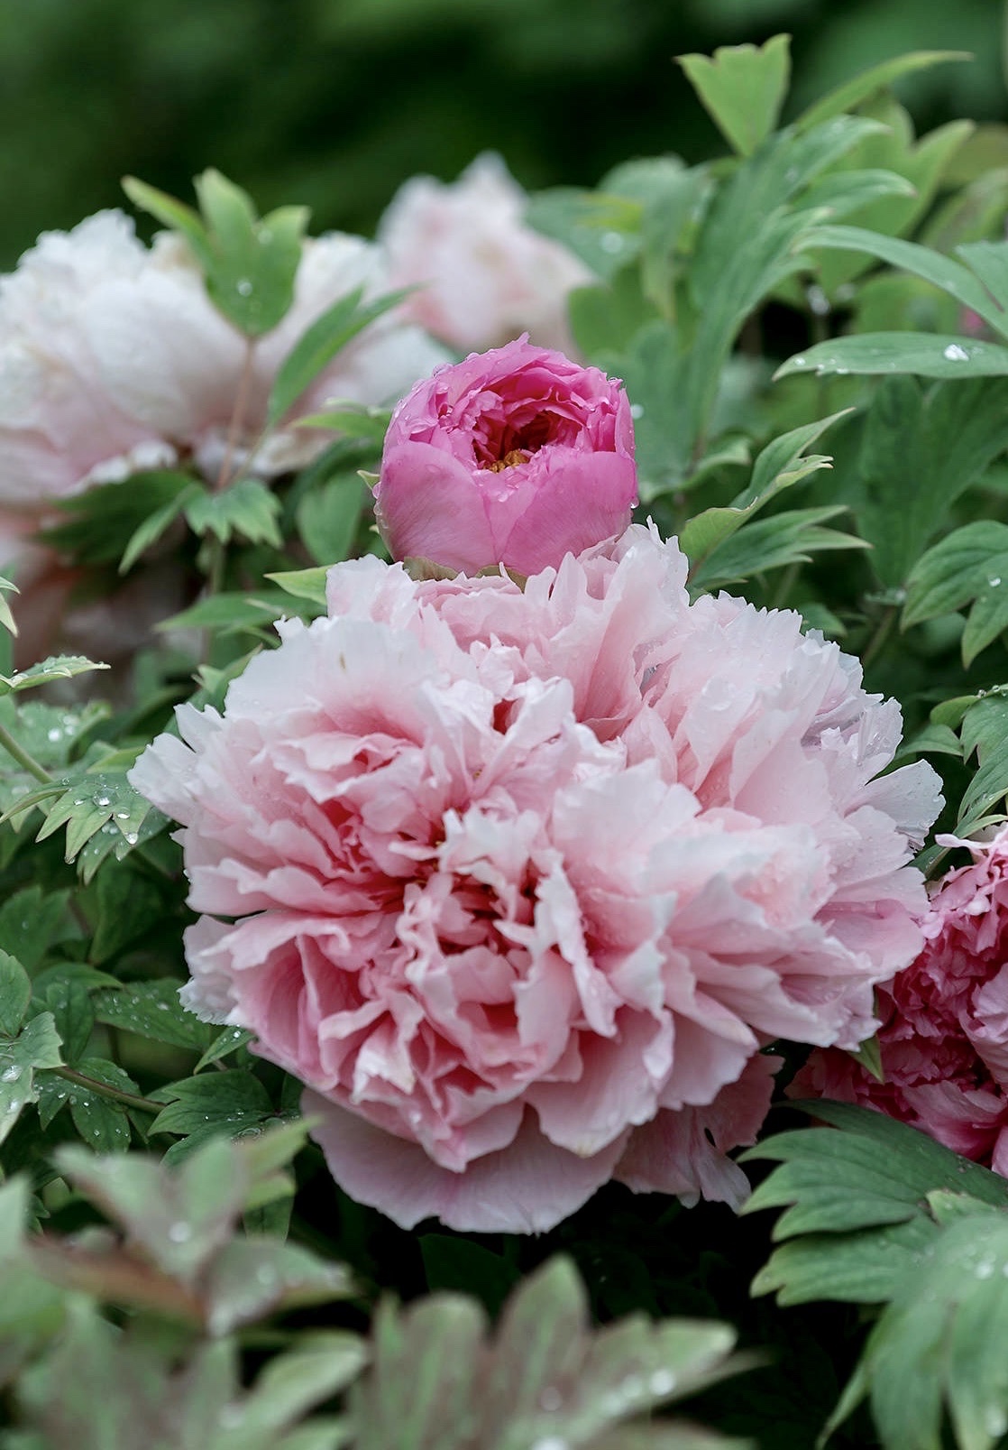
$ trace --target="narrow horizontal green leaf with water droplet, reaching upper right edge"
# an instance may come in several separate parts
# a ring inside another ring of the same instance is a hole
[[[938,332],[854,332],[817,342],[782,362],[775,378],[792,373],[915,373],[918,377],[1004,377],[1008,348]]]

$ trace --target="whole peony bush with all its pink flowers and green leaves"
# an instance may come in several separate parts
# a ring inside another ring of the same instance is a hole
[[[127,178],[0,280],[0,1450],[1008,1434],[944,61],[684,57],[728,155],[374,241]]]

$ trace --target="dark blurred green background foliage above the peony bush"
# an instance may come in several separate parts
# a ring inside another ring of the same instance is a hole
[[[918,128],[1005,117],[999,0],[4,0],[0,265],[120,204],[125,173],[188,196],[213,164],[265,209],[369,232],[408,175],[452,178],[487,148],[530,188],[695,161],[720,146],[673,57],[781,29],[792,112],[953,46],[976,59],[901,90]]]

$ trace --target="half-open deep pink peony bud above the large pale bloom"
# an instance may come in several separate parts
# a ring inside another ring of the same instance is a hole
[[[398,405],[375,513],[395,558],[534,574],[621,534],[636,497],[620,383],[521,338],[437,368]]]

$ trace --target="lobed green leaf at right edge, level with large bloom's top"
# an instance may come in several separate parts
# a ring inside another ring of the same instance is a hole
[[[1005,584],[1002,587],[1002,580]],[[963,664],[1008,629],[1008,525],[995,521],[954,529],[924,554],[907,580],[904,628],[972,603]]]

